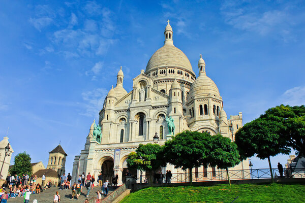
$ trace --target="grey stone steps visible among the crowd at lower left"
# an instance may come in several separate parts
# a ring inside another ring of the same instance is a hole
[[[60,202],[66,203],[66,202],[75,202],[75,203],[83,203],[86,198],[90,199],[92,197],[97,197],[97,191],[100,190],[102,191],[101,187],[94,187],[93,190],[90,190],[90,195],[89,197],[86,197],[87,194],[87,189],[83,188],[82,193],[80,194],[78,199],[71,199],[72,194],[71,194],[71,189],[68,190],[59,190],[58,187],[51,187],[50,189],[44,190],[40,194],[31,194],[29,198],[29,202],[32,203],[34,199],[37,199],[38,203],[44,203],[44,202],[53,202],[54,194],[56,191],[59,192],[60,195]],[[110,187],[108,191],[108,195],[113,191],[113,188]],[[13,202],[18,202],[21,203],[23,202],[23,197],[16,197],[16,198],[9,198],[8,203],[13,203]]]

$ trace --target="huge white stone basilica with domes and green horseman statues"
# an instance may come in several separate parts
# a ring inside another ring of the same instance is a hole
[[[130,92],[124,89],[124,73],[120,67],[116,86],[108,92],[99,112],[99,121],[92,123],[84,149],[75,156],[72,181],[83,172],[96,177],[102,172],[105,180],[118,174],[120,185],[127,170],[128,154],[139,144],[153,143],[156,133],[160,145],[184,130],[220,133],[234,141],[235,132],[242,126],[241,112],[227,117],[219,89],[207,76],[202,56],[196,77],[188,57],[173,44],[169,21],[164,37],[164,45],[150,57],[146,69],[133,79]],[[174,133],[167,127],[168,117],[174,122]],[[247,160],[230,168],[240,169],[249,169]],[[166,170],[173,174],[185,173],[172,165],[162,168],[163,173]],[[195,168],[195,175],[196,172],[212,172],[214,177],[218,173],[215,167]],[[139,173],[132,172],[136,177]]]

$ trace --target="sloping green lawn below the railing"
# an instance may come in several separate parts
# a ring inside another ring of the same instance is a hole
[[[305,202],[305,184],[242,184],[149,187],[131,193],[121,202]]]

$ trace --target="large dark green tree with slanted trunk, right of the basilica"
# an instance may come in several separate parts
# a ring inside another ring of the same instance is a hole
[[[272,182],[270,156],[276,156],[280,153],[289,154],[291,151],[282,135],[284,129],[285,127],[279,118],[257,118],[246,123],[235,134],[235,143],[238,146],[241,159],[252,157],[254,154],[260,159],[268,159]]]

